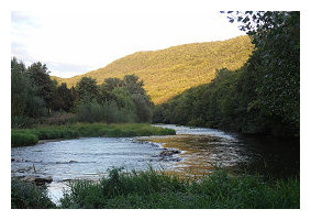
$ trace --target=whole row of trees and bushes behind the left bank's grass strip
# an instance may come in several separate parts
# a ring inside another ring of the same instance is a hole
[[[135,75],[123,79],[107,78],[97,84],[81,78],[76,87],[57,86],[40,62],[25,68],[15,57],[11,61],[12,128],[69,122],[151,122],[154,103]]]

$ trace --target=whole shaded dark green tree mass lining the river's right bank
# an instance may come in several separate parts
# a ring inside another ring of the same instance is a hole
[[[236,14],[255,45],[248,62],[157,106],[154,122],[299,136],[299,12]]]

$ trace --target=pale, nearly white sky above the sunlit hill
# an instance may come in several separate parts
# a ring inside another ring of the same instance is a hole
[[[12,12],[11,55],[71,77],[138,51],[244,34],[219,11]]]

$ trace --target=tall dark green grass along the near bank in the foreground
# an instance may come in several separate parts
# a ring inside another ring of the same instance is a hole
[[[112,169],[109,176],[100,182],[78,180],[71,183],[69,188],[58,208],[297,209],[300,207],[298,177],[286,180],[263,180],[258,176],[232,177],[223,170],[193,180],[154,170],[129,174]],[[14,204],[16,201],[25,204],[21,198],[33,201],[32,205],[37,206],[36,208],[49,206],[47,200],[37,204],[35,199],[19,196],[24,194],[24,189],[21,189],[21,187],[12,187],[14,190],[11,194],[12,208],[19,208]]]

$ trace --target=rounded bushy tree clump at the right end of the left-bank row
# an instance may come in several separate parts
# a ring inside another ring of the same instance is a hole
[[[79,97],[92,96],[84,101],[81,99],[77,106],[77,116],[81,121],[110,123],[152,120],[153,102],[143,88],[144,82],[135,75],[126,75],[124,79],[107,78],[99,86],[95,79],[85,77],[77,85]]]

